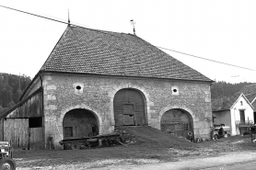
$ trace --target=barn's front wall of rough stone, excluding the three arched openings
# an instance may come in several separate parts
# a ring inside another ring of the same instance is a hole
[[[52,136],[54,145],[59,146],[64,136],[64,115],[75,108],[85,108],[95,114],[99,134],[113,132],[113,98],[123,88],[139,90],[145,96],[149,126],[160,130],[163,114],[169,109],[180,108],[192,116],[194,138],[210,138],[209,82],[85,74],[44,74],[42,80],[45,143]]]

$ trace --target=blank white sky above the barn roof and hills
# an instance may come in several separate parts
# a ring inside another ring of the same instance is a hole
[[[33,78],[67,25],[1,6],[122,33],[134,19],[138,37],[210,79],[256,83],[255,0],[0,0],[0,73]]]

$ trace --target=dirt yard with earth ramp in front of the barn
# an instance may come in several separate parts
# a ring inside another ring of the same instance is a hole
[[[217,141],[188,142],[151,128],[126,129],[122,136],[127,147],[84,150],[15,151],[17,169],[90,169],[120,165],[164,164],[225,153],[255,151],[250,136],[234,136]]]

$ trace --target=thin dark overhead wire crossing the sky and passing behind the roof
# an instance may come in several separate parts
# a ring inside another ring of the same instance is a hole
[[[25,14],[28,14],[28,15],[31,15],[31,16],[35,16],[35,17],[42,17],[42,18],[49,19],[49,20],[52,20],[52,21],[55,21],[55,22],[60,22],[60,23],[63,23],[63,24],[70,24],[68,22],[64,22],[64,21],[61,21],[61,20],[58,20],[58,19],[53,19],[51,17],[43,17],[43,16],[40,16],[40,15],[32,14],[32,13],[29,13],[29,12],[26,12],[26,11],[22,11],[22,10],[18,10],[18,9],[15,9],[15,8],[12,8],[12,7],[8,7],[8,6],[0,6],[0,7],[4,7],[4,8],[7,8],[7,9],[11,9],[11,10],[15,10],[15,11],[18,11],[18,12],[21,12],[21,13],[25,13]],[[71,24],[71,25],[77,26],[77,27],[81,27],[81,26],[76,25],[76,24]],[[94,30],[97,30],[97,29],[94,29]],[[104,33],[106,33],[106,32],[104,32]],[[110,34],[110,35],[113,36],[112,34]],[[194,58],[198,58],[198,59],[202,59],[202,60],[209,61],[209,62],[221,63],[221,64],[225,64],[225,65],[228,65],[228,66],[238,67],[240,69],[246,69],[246,70],[250,70],[250,71],[256,72],[256,70],[253,70],[253,69],[250,69],[250,68],[247,68],[247,67],[242,67],[242,66],[235,65],[235,64],[231,64],[231,63],[227,63],[227,62],[218,62],[218,61],[215,61],[215,60],[207,59],[207,58],[204,58],[204,57],[199,57],[199,56],[192,55],[192,54],[185,53],[185,52],[181,52],[181,51],[174,51],[174,50],[171,50],[171,49],[168,49],[168,48],[164,48],[164,47],[159,47],[159,46],[155,46],[155,47],[157,47],[158,49],[163,49],[163,50],[166,50],[166,51],[173,51],[173,52],[176,52],[176,53],[180,53],[180,54],[183,54],[183,55],[188,55],[188,56],[191,56],[191,57],[194,57]]]

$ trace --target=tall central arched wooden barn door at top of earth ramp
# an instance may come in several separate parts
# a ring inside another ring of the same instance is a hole
[[[116,126],[139,126],[146,124],[145,96],[142,92],[125,88],[118,91],[113,100]]]

